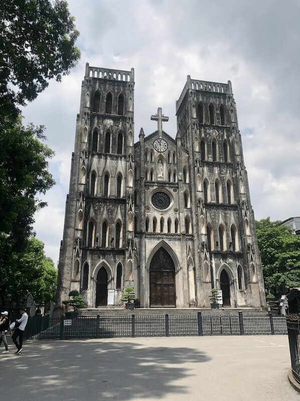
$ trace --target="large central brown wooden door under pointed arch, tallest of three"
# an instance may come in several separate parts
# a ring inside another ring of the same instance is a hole
[[[176,307],[175,265],[163,247],[150,263],[150,306]]]

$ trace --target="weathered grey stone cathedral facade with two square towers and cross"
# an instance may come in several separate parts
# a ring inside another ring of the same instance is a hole
[[[140,307],[265,305],[261,261],[231,83],[188,76],[177,133],[134,143],[134,70],[86,65],[59,259],[58,305],[72,289],[114,305],[130,283]],[[175,139],[174,139],[175,137]]]

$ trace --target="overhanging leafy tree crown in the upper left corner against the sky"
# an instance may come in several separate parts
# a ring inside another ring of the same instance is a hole
[[[0,4],[0,109],[17,113],[49,84],[61,81],[79,58],[79,32],[67,2],[10,0]]]

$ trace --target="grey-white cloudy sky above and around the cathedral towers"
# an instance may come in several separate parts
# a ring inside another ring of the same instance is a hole
[[[36,215],[37,237],[55,263],[63,236],[65,200],[85,63],[134,68],[135,140],[156,122],[158,107],[176,134],[175,101],[192,79],[231,80],[256,219],[299,216],[300,2],[289,0],[69,0],[80,31],[81,60],[62,83],[24,109],[25,122],[44,124],[56,156],[56,186]]]

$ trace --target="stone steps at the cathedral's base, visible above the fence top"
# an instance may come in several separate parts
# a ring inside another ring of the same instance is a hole
[[[136,308],[136,309],[125,309],[125,308],[85,308],[80,309],[80,316],[92,317],[92,316],[128,316],[128,315],[139,315],[139,316],[154,316],[154,315],[197,315],[198,312],[202,312],[205,315],[236,315],[239,312],[243,312],[246,315],[263,315],[267,314],[258,308]]]

